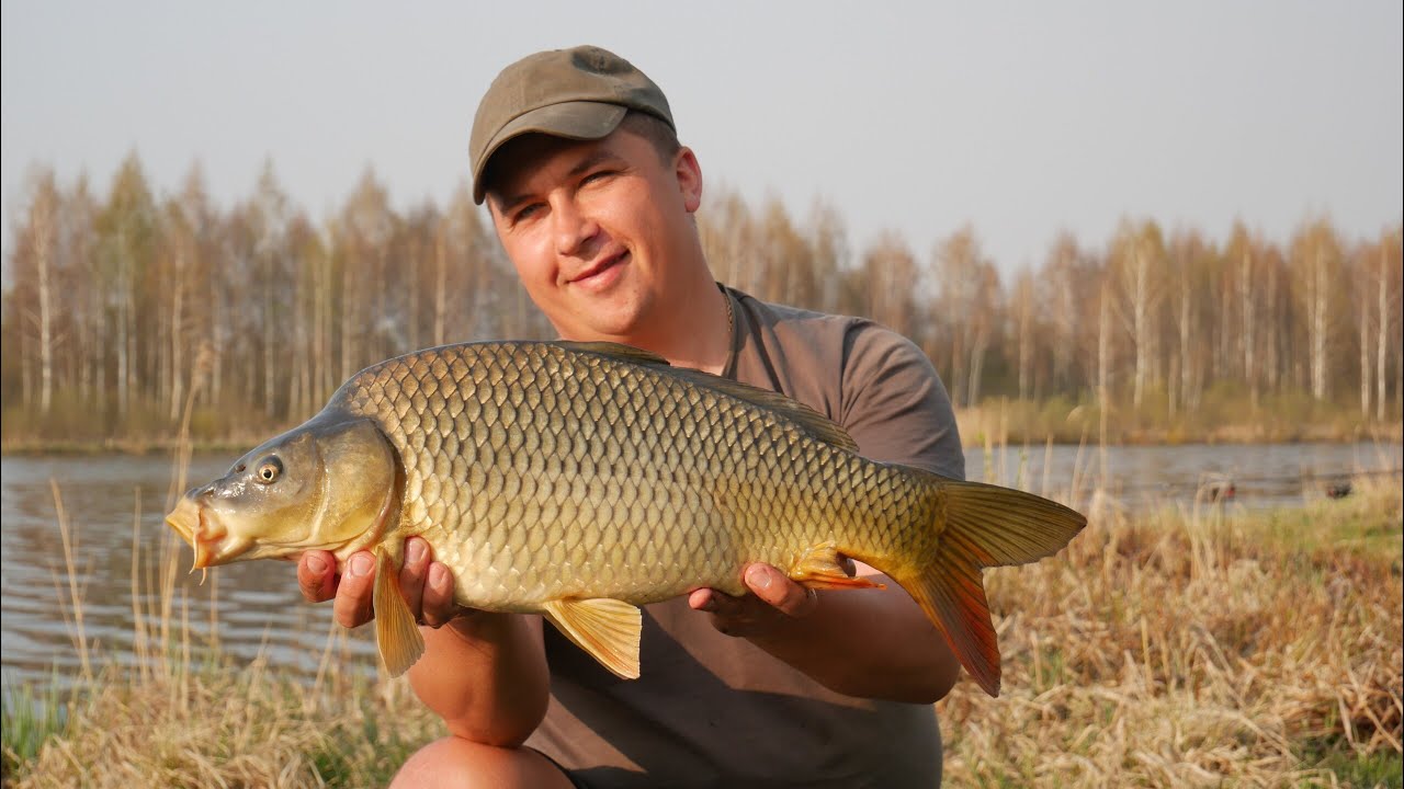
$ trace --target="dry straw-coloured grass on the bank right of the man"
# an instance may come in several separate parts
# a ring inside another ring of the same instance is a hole
[[[1400,489],[1132,521],[987,573],[1004,695],[941,702],[953,786],[1393,785]]]

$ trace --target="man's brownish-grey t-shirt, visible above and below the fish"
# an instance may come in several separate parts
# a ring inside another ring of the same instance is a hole
[[[965,477],[945,387],[910,341],[869,320],[739,291],[724,375],[842,425],[859,452]],[[837,592],[842,594],[842,592]],[[619,679],[546,628],[550,706],[526,741],[591,788],[921,788],[941,781],[931,705],[835,694],[687,598],[644,606],[640,679]]]

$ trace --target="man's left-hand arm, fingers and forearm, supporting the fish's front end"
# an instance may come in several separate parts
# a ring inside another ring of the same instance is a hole
[[[541,618],[458,606],[453,574],[431,559],[428,542],[407,541],[400,588],[410,611],[427,625],[420,628],[425,650],[409,671],[410,687],[452,734],[519,745],[546,716],[550,678]],[[338,576],[333,555],[309,550],[298,562],[298,584],[312,602],[334,599],[336,621],[357,628],[375,616],[375,560],[361,552],[345,567]]]

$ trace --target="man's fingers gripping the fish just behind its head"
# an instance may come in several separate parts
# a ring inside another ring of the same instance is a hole
[[[345,562],[345,573],[337,573],[337,557],[331,552],[305,552],[298,559],[298,587],[309,602],[333,599],[333,618],[345,628],[359,628],[375,618],[371,608],[375,556],[369,550],[352,553]],[[400,591],[421,625],[439,628],[469,612],[453,602],[453,573],[432,562],[430,543],[423,538],[411,536],[404,542]]]

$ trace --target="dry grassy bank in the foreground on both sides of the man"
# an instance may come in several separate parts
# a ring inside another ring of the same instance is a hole
[[[1398,786],[1404,493],[1353,483],[1269,511],[1129,512],[1094,494],[1068,549],[987,571],[1004,694],[960,682],[936,705],[946,783]],[[67,545],[56,486],[55,503]],[[313,678],[232,660],[218,626],[191,629],[178,557],[173,541],[133,556],[147,602],[119,661],[84,637],[69,555],[81,668],[6,682],[6,788],[385,785],[445,733],[403,678],[351,660],[338,628]]]

